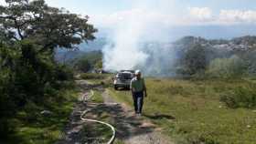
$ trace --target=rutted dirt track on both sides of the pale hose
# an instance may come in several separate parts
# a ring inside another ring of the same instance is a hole
[[[82,128],[84,125],[88,125],[88,122],[80,120],[80,113],[88,109],[92,109],[92,111],[87,118],[109,121],[116,129],[116,138],[125,144],[173,144],[171,139],[161,133],[161,129],[157,129],[153,123],[144,118],[136,117],[132,108],[116,102],[100,85],[91,85],[84,80],[78,81],[78,84],[82,89],[81,96],[90,89],[100,90],[104,104],[88,103],[84,105],[81,101],[82,98],[79,98],[80,100],[70,116],[69,126],[65,130],[66,135],[57,144],[102,143],[102,141],[99,142],[100,140],[90,140],[86,138],[87,136],[82,135]],[[101,136],[97,137],[101,139]]]

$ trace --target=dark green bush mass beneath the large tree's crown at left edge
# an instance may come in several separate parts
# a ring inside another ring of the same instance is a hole
[[[0,137],[16,129],[8,121],[29,102],[44,107],[72,82],[69,68],[57,65],[47,53],[37,53],[37,48],[28,42],[0,46]]]

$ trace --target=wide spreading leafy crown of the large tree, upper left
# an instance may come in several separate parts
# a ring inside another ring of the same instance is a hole
[[[44,0],[5,0],[0,5],[0,42],[29,39],[40,46],[39,52],[55,47],[74,48],[95,37],[89,16],[71,14],[64,8],[48,6]]]

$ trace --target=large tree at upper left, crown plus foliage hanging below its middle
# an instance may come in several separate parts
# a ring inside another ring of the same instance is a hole
[[[97,32],[89,16],[70,14],[64,8],[48,6],[44,0],[5,0],[0,5],[0,44],[16,47],[42,83],[47,83],[54,63],[54,49],[76,48]],[[23,63],[23,64],[22,64]],[[50,64],[52,63],[52,64]],[[51,79],[52,80],[52,79]]]

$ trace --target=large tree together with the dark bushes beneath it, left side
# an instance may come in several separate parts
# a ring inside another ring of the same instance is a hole
[[[27,103],[46,107],[72,73],[54,61],[55,48],[74,49],[97,32],[89,16],[71,14],[44,0],[5,0],[0,5],[0,137]],[[9,124],[9,125],[8,125]]]

